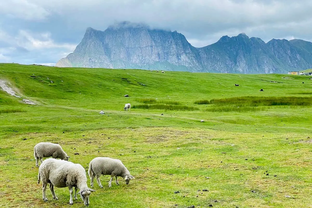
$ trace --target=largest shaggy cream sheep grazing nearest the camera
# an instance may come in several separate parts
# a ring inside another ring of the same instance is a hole
[[[50,183],[50,190],[53,199],[58,199],[54,192],[54,186],[58,188],[68,187],[70,193],[69,204],[73,204],[73,187],[75,187],[74,198],[77,200],[77,190],[78,194],[85,206],[89,206],[89,196],[93,189],[88,188],[87,177],[85,174],[85,169],[80,164],[75,164],[72,162],[57,160],[54,158],[46,159],[41,163],[38,172],[38,184],[42,182],[42,199],[43,201],[48,201],[46,198],[46,186]]]

